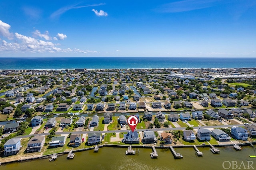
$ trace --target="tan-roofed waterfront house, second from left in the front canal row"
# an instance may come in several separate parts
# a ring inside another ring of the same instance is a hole
[[[44,143],[45,143],[44,136],[36,135],[36,136],[32,137],[28,142],[28,146],[26,149],[27,153],[41,152],[41,149],[44,146]]]

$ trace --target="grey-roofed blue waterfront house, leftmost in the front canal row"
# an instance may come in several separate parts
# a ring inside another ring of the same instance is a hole
[[[21,148],[20,138],[11,138],[4,144],[4,155],[15,155]]]

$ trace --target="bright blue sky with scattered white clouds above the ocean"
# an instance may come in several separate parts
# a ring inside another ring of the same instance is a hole
[[[1,0],[0,57],[256,57],[256,0]]]

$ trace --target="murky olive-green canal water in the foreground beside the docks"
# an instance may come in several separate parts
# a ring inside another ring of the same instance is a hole
[[[127,148],[104,147],[100,148],[98,153],[94,153],[94,150],[76,152],[72,160],[67,160],[67,154],[65,154],[58,156],[54,162],[49,162],[49,158],[47,158],[2,164],[1,170],[29,170],[35,169],[35,167],[36,170],[222,170],[232,169],[232,164],[237,164],[238,168],[244,164],[248,169],[248,161],[252,161],[250,164],[256,168],[256,158],[249,157],[249,155],[256,154],[252,147],[244,146],[240,151],[236,151],[232,147],[219,149],[220,154],[213,154],[208,147],[199,148],[204,156],[198,157],[194,148],[175,148],[176,152],[182,154],[182,159],[174,159],[170,149],[156,149],[158,158],[152,159],[150,157],[152,150],[148,148],[140,148],[140,152],[136,155],[126,155]],[[242,166],[240,169],[244,169],[244,167]]]

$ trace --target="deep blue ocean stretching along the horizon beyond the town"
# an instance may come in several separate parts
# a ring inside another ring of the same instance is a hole
[[[140,69],[248,68],[256,58],[213,57],[1,57],[0,70],[10,69]]]

